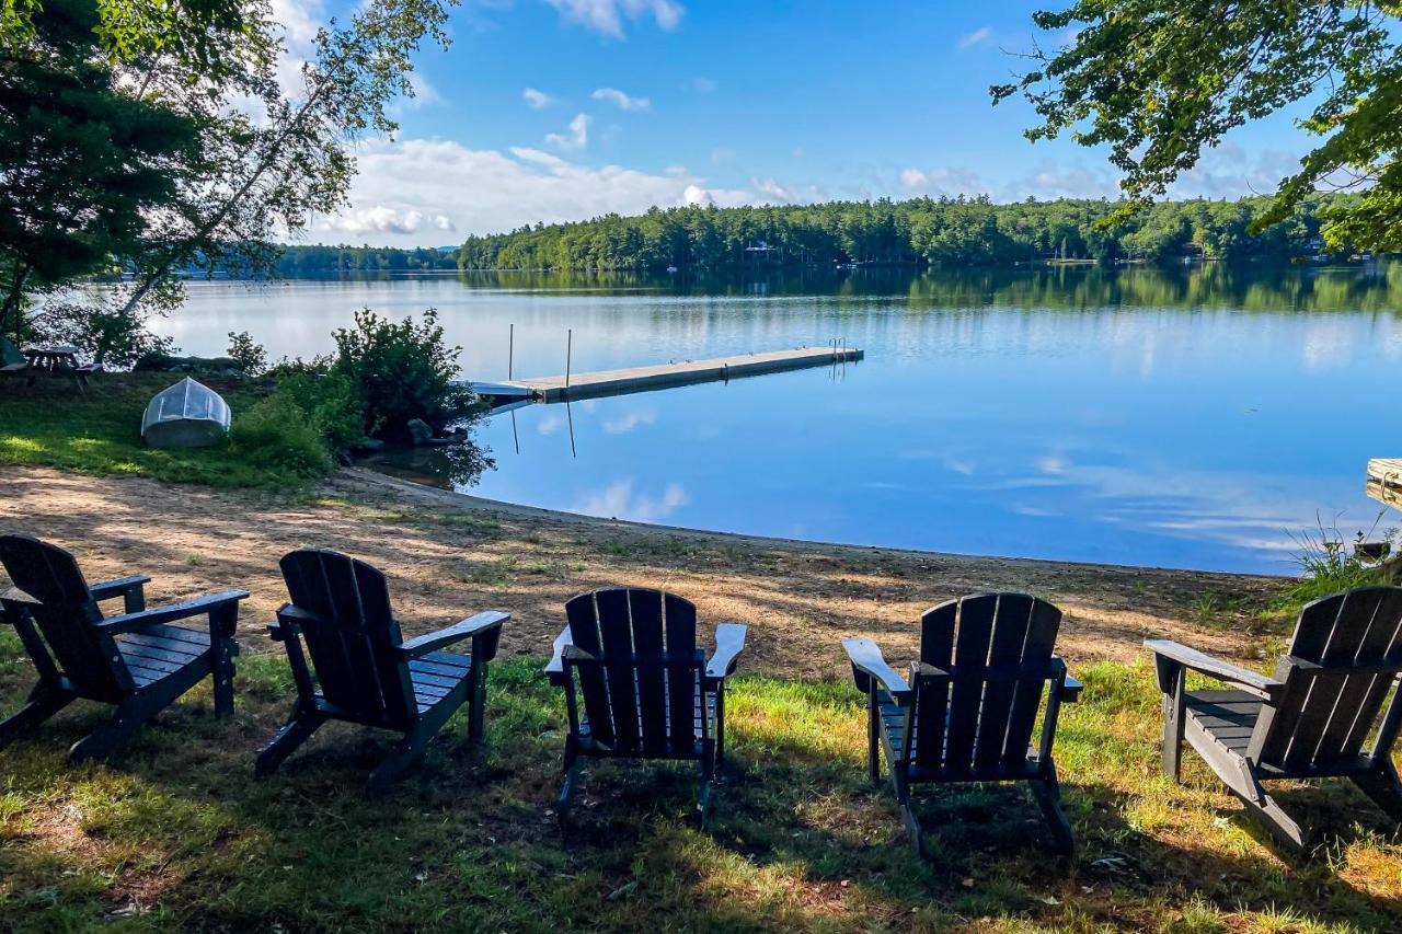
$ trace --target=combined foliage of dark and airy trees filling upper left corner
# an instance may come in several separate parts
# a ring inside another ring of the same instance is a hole
[[[130,279],[94,321],[133,327],[192,269],[269,268],[345,205],[454,3],[366,0],[290,50],[268,0],[0,0],[0,323],[22,337],[38,290],[102,268]]]

